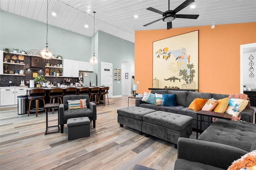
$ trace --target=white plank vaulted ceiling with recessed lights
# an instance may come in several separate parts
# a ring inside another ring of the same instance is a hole
[[[185,0],[170,0],[174,10]],[[144,27],[144,24],[162,18],[161,14],[146,10],[168,10],[168,0],[48,0],[48,24],[84,36],[101,30],[124,40],[134,42],[136,30],[166,29],[162,20]],[[196,8],[190,8],[195,5]],[[172,28],[256,22],[256,0],[195,0],[177,14],[199,14],[198,19],[176,18]],[[0,0],[0,9],[46,23],[46,0]],[[52,12],[56,16],[52,16]],[[137,15],[138,18],[134,18]],[[85,28],[85,25],[88,28]],[[168,30],[172,31],[172,29]]]

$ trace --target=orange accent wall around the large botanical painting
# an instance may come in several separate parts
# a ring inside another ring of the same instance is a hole
[[[154,41],[199,30],[199,92],[240,93],[240,45],[256,42],[256,22],[135,31],[135,79],[138,92],[152,87]],[[164,87],[159,87],[164,88]]]

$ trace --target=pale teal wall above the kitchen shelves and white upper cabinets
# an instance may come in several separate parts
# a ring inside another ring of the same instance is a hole
[[[0,49],[40,51],[45,43],[45,23],[0,10]],[[55,56],[89,62],[91,45],[90,37],[48,25],[48,47]]]

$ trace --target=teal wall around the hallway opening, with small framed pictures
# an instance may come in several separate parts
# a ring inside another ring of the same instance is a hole
[[[97,51],[97,53],[95,53],[95,55],[98,58],[98,64],[96,67],[94,67],[94,71],[98,74],[98,85],[101,84],[101,61],[113,63],[113,68],[116,69],[122,69],[122,61],[130,61],[131,74],[134,75],[134,43],[126,41],[122,38],[118,38],[116,36],[112,36],[102,31],[98,31],[97,33],[98,34],[95,35],[95,42],[97,42],[97,45],[95,45],[95,51]],[[98,70],[96,71],[95,69]],[[121,73],[123,74],[122,70]],[[133,79],[131,84],[134,84]],[[112,95],[122,95],[121,82],[118,83],[118,81],[113,81]]]

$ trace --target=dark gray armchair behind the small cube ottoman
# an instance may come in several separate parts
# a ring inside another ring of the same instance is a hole
[[[68,100],[86,99],[86,109],[74,109],[68,110]],[[93,128],[95,128],[97,111],[95,103],[89,102],[89,95],[68,95],[63,96],[63,104],[59,107],[59,123],[60,132],[63,133],[64,124],[67,120],[75,117],[88,117],[90,121],[93,121]]]

